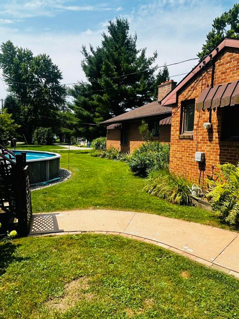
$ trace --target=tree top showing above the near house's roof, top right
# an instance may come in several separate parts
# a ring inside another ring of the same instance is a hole
[[[212,30],[207,34],[206,43],[198,53],[200,60],[208,55],[225,37],[239,38],[239,3],[215,18]]]

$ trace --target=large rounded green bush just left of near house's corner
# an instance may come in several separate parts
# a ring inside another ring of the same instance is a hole
[[[151,170],[168,169],[170,146],[147,142],[135,150],[128,160],[129,168],[138,176],[147,176]]]

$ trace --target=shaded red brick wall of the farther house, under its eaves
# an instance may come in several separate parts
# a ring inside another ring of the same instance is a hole
[[[128,143],[126,145],[120,145],[120,130],[108,130],[107,132],[107,148],[114,147],[122,152],[132,153],[134,149],[139,148],[143,143],[142,137],[139,134],[138,127],[141,121],[135,121],[128,123]],[[170,142],[171,125],[159,126],[159,138],[154,138],[155,141],[162,143]]]

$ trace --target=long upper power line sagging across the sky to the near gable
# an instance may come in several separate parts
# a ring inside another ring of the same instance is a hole
[[[177,64],[180,64],[180,63],[185,63],[185,62],[193,61],[193,60],[198,60],[198,58],[192,58],[192,59],[187,59],[187,60],[183,60],[183,61],[179,61],[179,62],[174,62],[174,63],[167,64],[166,66],[177,65]],[[127,73],[127,74],[123,74],[123,75],[119,75],[119,76],[114,76],[114,77],[111,77],[111,78],[108,78],[108,79],[113,80],[113,79],[118,79],[118,78],[125,77],[125,76],[128,76],[128,75],[134,75],[134,74],[137,74],[137,73],[147,72],[147,71],[150,71],[150,70],[157,70],[158,68],[162,68],[162,67],[164,67],[164,66],[165,66],[165,65],[159,65],[159,66],[152,67],[152,68],[148,68],[148,69],[141,70],[141,71],[136,71],[136,72]],[[7,80],[10,81],[10,82],[12,82],[12,83],[16,83],[16,84],[42,86],[42,84],[17,82],[17,81],[14,81],[14,80],[12,80],[12,79],[9,79],[9,78],[8,78]],[[61,86],[65,86],[65,85],[85,84],[85,83],[99,82],[99,81],[101,81],[101,80],[102,80],[102,79],[92,80],[92,81],[81,81],[81,82],[78,81],[78,82],[65,83],[65,84],[60,84],[60,85],[61,85]],[[43,85],[44,85],[44,84],[43,84]]]

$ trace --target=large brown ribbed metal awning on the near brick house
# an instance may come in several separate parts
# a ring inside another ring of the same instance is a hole
[[[196,102],[196,110],[206,110],[239,104],[239,80],[203,90]]]

